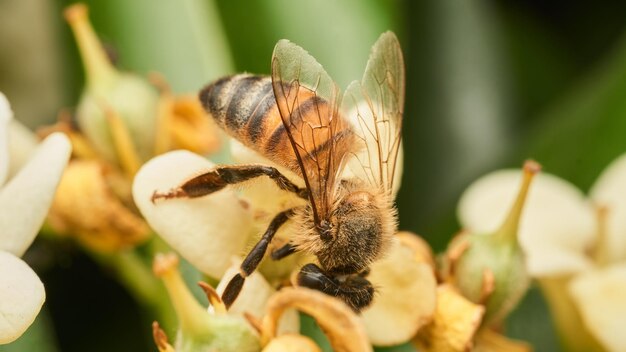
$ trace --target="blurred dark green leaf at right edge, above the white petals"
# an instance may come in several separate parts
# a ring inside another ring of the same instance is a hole
[[[538,121],[522,155],[587,190],[626,152],[626,37]]]

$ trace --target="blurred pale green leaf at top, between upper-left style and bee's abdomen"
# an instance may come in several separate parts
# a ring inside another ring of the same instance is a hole
[[[116,48],[125,70],[160,72],[177,92],[196,91],[233,72],[213,1],[111,0],[89,5],[96,31]]]

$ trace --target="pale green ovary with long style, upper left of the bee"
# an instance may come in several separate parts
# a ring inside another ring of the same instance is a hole
[[[139,165],[132,164],[146,160],[154,150],[158,94],[147,81],[113,67],[84,4],[68,7],[65,18],[78,42],[86,73],[78,124],[105,158],[136,170]]]

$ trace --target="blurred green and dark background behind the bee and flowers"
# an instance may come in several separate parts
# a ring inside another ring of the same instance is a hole
[[[82,89],[62,18],[69,3],[0,1],[0,91],[32,128],[74,106]],[[281,38],[306,48],[345,87],[361,77],[380,33],[396,32],[407,65],[400,225],[437,250],[458,230],[459,195],[481,174],[534,158],[586,191],[626,151],[623,1],[86,3],[121,69],[161,72],[177,92],[229,73],[268,73]],[[0,351],[155,350],[152,317],[76,246],[38,240],[26,260],[47,302],[36,325]],[[537,351],[558,348],[536,290],[507,330]]]

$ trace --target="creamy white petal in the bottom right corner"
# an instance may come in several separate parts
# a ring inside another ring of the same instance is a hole
[[[626,351],[626,264],[576,277],[570,293],[587,329],[609,351]]]

